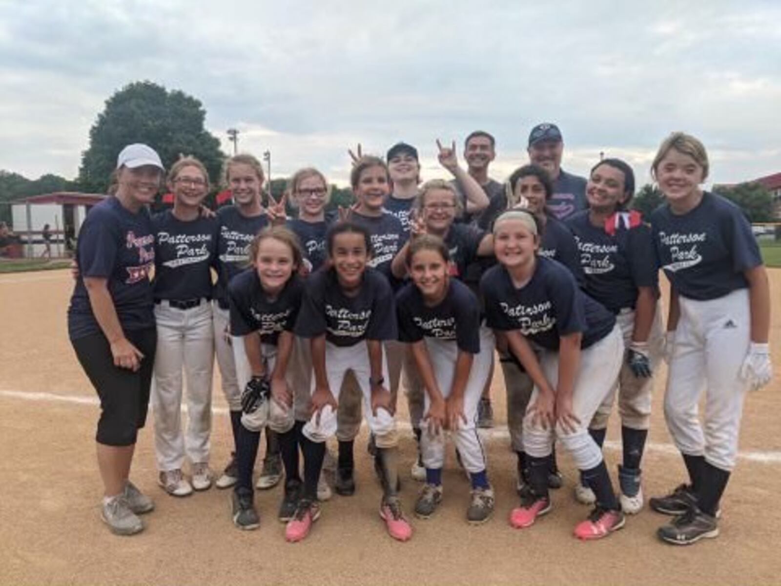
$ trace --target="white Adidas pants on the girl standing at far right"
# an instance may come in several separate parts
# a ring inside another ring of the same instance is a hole
[[[665,392],[665,420],[683,454],[732,470],[747,384],[740,366],[751,343],[748,290],[718,299],[679,298],[680,319]],[[705,391],[704,427],[697,402]]]

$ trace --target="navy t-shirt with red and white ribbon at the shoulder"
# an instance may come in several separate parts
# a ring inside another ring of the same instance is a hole
[[[637,304],[638,287],[658,287],[658,266],[647,224],[619,226],[615,235],[594,226],[587,211],[567,220],[575,234],[586,292],[613,313]]]

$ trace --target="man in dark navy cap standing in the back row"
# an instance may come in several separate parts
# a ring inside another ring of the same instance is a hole
[[[562,131],[551,123],[533,127],[529,134],[530,162],[541,166],[553,180],[553,196],[547,200],[547,207],[559,220],[565,220],[573,213],[587,208],[586,180],[562,169],[564,141]]]

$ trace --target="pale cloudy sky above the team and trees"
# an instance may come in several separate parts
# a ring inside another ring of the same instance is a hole
[[[347,148],[497,138],[494,177],[554,121],[565,169],[600,152],[649,180],[672,130],[711,179],[781,172],[781,2],[119,2],[0,0],[0,169],[75,177],[105,99],[152,80],[203,102],[223,140],[272,151],[274,176],[348,176]],[[460,150],[460,149],[459,149]]]

